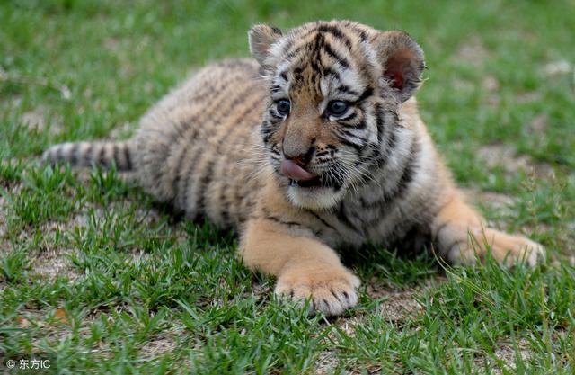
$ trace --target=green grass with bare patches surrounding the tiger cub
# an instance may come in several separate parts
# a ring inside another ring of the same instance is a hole
[[[573,9],[4,1],[0,357],[56,352],[63,374],[573,373]],[[306,317],[235,260],[233,234],[175,218],[114,171],[36,163],[60,141],[129,137],[192,67],[246,56],[253,23],[330,18],[420,41],[421,113],[456,180],[493,225],[542,242],[547,263],[451,269],[370,247],[345,254],[358,307]]]

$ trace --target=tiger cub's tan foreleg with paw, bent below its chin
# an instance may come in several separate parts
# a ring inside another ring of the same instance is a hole
[[[311,298],[310,308],[326,315],[355,306],[358,278],[341,264],[332,248],[291,230],[270,219],[250,220],[240,244],[243,263],[276,276],[277,295]]]

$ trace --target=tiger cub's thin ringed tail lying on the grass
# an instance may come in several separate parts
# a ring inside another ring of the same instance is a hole
[[[119,171],[134,170],[135,145],[124,142],[75,142],[60,143],[49,147],[42,155],[42,163],[55,165],[68,162],[74,166],[116,165]]]

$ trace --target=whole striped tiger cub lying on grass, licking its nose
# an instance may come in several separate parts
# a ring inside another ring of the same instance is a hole
[[[245,265],[326,315],[358,302],[334,248],[427,244],[456,264],[544,257],[488,228],[452,182],[413,98],[425,63],[409,35],[331,21],[256,25],[249,43],[254,60],[203,68],[134,138],[65,143],[44,159],[134,170],[187,218],[236,228]]]

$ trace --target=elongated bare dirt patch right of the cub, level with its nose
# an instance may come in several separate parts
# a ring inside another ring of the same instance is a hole
[[[551,165],[537,162],[531,156],[517,156],[506,145],[497,144],[481,147],[478,156],[489,168],[500,167],[509,174],[516,174],[518,171],[523,170],[528,174],[534,174],[538,178],[553,178],[555,176]]]

